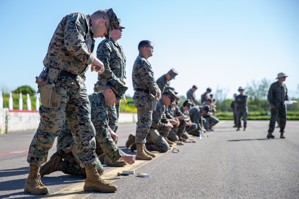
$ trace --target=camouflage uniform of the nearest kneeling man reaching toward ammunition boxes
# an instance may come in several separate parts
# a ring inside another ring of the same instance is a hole
[[[94,124],[96,131],[96,154],[97,156],[106,155],[106,157],[114,163],[122,155],[123,151],[116,146],[110,135],[109,119],[107,112],[107,105],[102,92],[95,92],[89,95],[89,101],[91,103],[91,121]],[[71,135],[71,131],[68,124],[65,123],[62,130],[64,133],[57,138],[57,153],[62,156],[64,161],[61,164],[61,171],[70,175],[86,176],[85,168],[75,161],[74,155],[65,153],[63,149],[71,146],[74,143],[74,139]],[[98,164],[100,165],[100,164]],[[100,175],[103,174],[103,166],[100,168]]]

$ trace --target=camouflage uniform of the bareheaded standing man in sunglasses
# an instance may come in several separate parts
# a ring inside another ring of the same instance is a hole
[[[145,108],[145,104],[149,101],[149,92],[156,96],[159,87],[154,78],[154,72],[147,59],[139,54],[135,60],[132,71],[133,88],[135,90],[133,95],[133,101],[137,111],[140,112]],[[149,90],[138,91],[139,89]],[[152,112],[144,111],[138,113],[138,122],[136,127],[136,144],[145,143],[145,138],[149,132],[149,128],[152,123]]]

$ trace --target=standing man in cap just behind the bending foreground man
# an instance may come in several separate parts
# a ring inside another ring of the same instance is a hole
[[[118,19],[120,21],[120,19]],[[126,56],[123,48],[117,43],[121,32],[125,27],[119,25],[119,30],[112,30],[110,39],[104,39],[97,47],[97,58],[104,64],[105,71],[98,75],[98,81],[94,84],[94,92],[104,90],[106,82],[111,78],[119,78],[125,84],[126,81]],[[115,105],[108,106],[109,127],[116,132],[120,101]]]

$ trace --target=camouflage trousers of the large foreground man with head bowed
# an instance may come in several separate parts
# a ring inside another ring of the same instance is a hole
[[[48,151],[59,135],[64,121],[68,122],[77,145],[78,158],[82,166],[99,163],[95,153],[95,129],[91,122],[91,108],[86,86],[79,76],[76,80],[58,77],[55,82],[56,93],[66,108],[39,107],[39,127],[31,141],[28,163],[43,164],[47,161]]]

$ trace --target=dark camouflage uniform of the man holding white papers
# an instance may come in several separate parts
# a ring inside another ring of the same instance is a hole
[[[284,101],[290,100],[288,89],[285,84],[280,84],[278,81],[271,84],[268,92],[268,101],[275,106],[271,109],[271,119],[268,132],[272,133],[275,127],[275,121],[279,118],[280,132],[284,132],[286,127],[286,105]]]

